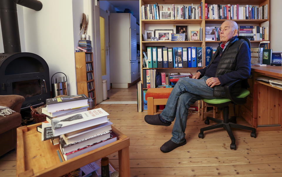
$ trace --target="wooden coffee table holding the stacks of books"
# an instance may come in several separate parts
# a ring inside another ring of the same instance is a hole
[[[120,177],[130,176],[129,138],[115,127],[112,126],[112,131],[117,134],[117,141],[65,161],[59,145],[52,145],[50,140],[41,141],[41,133],[36,131],[40,124],[17,128],[17,177],[62,176],[116,151]]]

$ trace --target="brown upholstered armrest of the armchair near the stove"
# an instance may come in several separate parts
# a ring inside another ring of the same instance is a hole
[[[9,107],[19,113],[24,100],[21,95],[0,95],[0,106]]]

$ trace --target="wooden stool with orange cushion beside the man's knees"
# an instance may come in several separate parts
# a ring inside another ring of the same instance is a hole
[[[145,100],[147,100],[148,115],[157,112],[157,105],[165,105],[173,88],[150,88],[147,90]]]

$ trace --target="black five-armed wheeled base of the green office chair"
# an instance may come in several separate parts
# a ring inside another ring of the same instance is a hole
[[[251,137],[256,138],[256,129],[252,128],[252,127],[248,127],[248,126],[244,126],[244,125],[239,125],[236,124],[236,117],[233,116],[229,119],[228,114],[229,114],[229,107],[224,107],[223,110],[224,113],[224,120],[220,120],[220,119],[216,119],[216,118],[212,118],[212,117],[207,117],[207,119],[205,120],[205,124],[209,124],[209,120],[212,120],[214,122],[216,122],[217,124],[215,125],[211,125],[205,128],[201,128],[200,133],[198,135],[199,138],[204,138],[204,131],[207,130],[213,130],[216,128],[224,128],[230,139],[231,139],[231,144],[230,144],[230,149],[234,149],[236,150],[236,144],[235,144],[235,137],[232,133],[231,128],[240,128],[240,129],[244,129],[244,130],[251,130]]]

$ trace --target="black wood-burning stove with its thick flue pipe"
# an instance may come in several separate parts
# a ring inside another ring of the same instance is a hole
[[[1,0],[0,20],[4,52],[0,54],[0,95],[22,95],[21,110],[40,106],[50,98],[49,67],[37,54],[21,52],[16,4],[36,11],[37,0]]]

